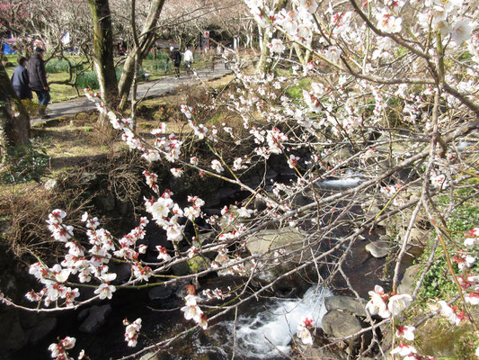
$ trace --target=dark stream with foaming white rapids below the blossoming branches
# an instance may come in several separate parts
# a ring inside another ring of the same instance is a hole
[[[359,184],[359,177],[346,179],[324,180],[321,187],[329,190],[355,186]],[[350,260],[346,262],[346,273],[357,278],[358,290],[367,297],[367,291],[377,283],[380,277],[383,260],[368,257],[364,243],[358,243],[351,251]],[[354,256],[352,256],[354,253]],[[349,264],[348,264],[349,263]],[[366,275],[366,276],[365,276]],[[235,280],[217,276],[201,278],[202,289],[226,288]],[[8,359],[51,359],[48,347],[57,342],[58,338],[66,336],[77,339],[75,348],[70,356],[78,355],[81,349],[92,360],[109,359],[126,356],[137,352],[193,325],[182,317],[183,306],[180,296],[175,295],[181,286],[174,288],[161,299],[152,300],[148,290],[127,290],[115,293],[111,302],[98,302],[96,305],[111,306],[105,320],[92,333],[81,332],[79,328],[84,322],[84,315],[80,311],[67,311],[56,316],[56,327],[47,336],[39,341],[22,347]],[[341,288],[334,284],[336,289]],[[201,290],[202,290],[201,289]],[[251,301],[238,311],[238,319],[234,320],[234,311],[225,319],[209,324],[206,331],[194,331],[191,335],[173,343],[166,348],[158,359],[202,359],[224,360],[230,359],[235,349],[235,359],[282,359],[290,352],[292,337],[296,334],[297,324],[303,317],[315,321],[316,327],[321,327],[321,320],[326,312],[324,298],[333,293],[321,286],[309,288],[300,297],[280,299],[261,298],[258,302]],[[135,348],[127,347],[124,341],[124,326],[122,321],[141,318],[142,331]],[[50,316],[51,319],[51,316]],[[22,320],[21,320],[22,321]],[[235,335],[234,335],[235,334]],[[235,339],[235,340],[234,340]],[[0,354],[0,358],[3,358]]]

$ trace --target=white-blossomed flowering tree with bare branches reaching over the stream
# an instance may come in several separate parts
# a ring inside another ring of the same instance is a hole
[[[414,347],[414,329],[439,314],[455,325],[471,321],[477,331],[471,307],[477,305],[479,296],[475,267],[479,233],[473,226],[453,234],[447,225],[464,202],[457,197],[458,190],[473,187],[470,196],[477,196],[477,153],[467,150],[476,146],[472,135],[479,128],[476,2],[372,0],[358,4],[350,0],[320,7],[315,0],[297,0],[288,9],[275,2],[245,3],[257,23],[277,34],[267,45],[270,55],[265,61],[271,72],[249,76],[236,69],[237,88],[226,98],[182,106],[190,136],[210,150],[208,157],[188,154],[182,148],[186,139],[168,134],[164,123],[152,130],[153,140],[142,139],[129,119],[120,119],[96,94],[90,95],[122,132],[129,148],[141,152],[147,162],[164,162],[174,176],[193,171],[235,184],[249,193],[244,202],[226,206],[221,215],[207,215],[198,196],[191,194],[188,205],[181,206],[173,192],[158,183],[158,176],[146,171],[152,192],[145,200],[148,215],[122,238],[113,238],[85,213],[87,241],[82,243],[67,225],[67,214],[53,211],[49,229],[65,243],[67,255],[59,264],[39,259],[31,266],[42,288],[28,298],[43,304],[45,311],[62,311],[157,280],[160,283],[156,284],[167,285],[208,274],[243,278],[243,286],[227,293],[211,289],[198,293],[198,284],[188,286],[181,309],[184,318],[207,329],[208,321],[235,311],[308,267],[315,269],[322,284],[343,278],[350,293],[359,297],[360,289],[345,272],[351,248],[377,227],[387,229],[386,222],[396,220],[395,231],[388,233],[397,247],[390,255],[393,266],[388,287],[377,285],[369,292],[369,326],[362,330],[390,326],[394,331],[389,331],[389,341],[380,340],[373,331],[372,345],[361,352],[376,351],[384,357],[389,352],[407,360],[430,358]],[[309,51],[313,60],[306,65],[291,64],[293,59],[283,58],[290,46]],[[310,85],[301,88],[301,79]],[[299,89],[299,95],[291,88]],[[229,110],[241,119],[242,126],[208,124],[197,115],[205,109]],[[227,151],[221,148],[225,143]],[[289,181],[270,181],[267,171],[250,181],[251,171],[267,169],[273,162],[291,169]],[[254,209],[253,202],[262,205]],[[208,240],[200,237],[200,220],[208,223]],[[170,248],[139,245],[148,221],[164,230]],[[413,293],[398,293],[402,260],[413,245],[412,230],[420,225],[429,231],[431,255]],[[287,243],[271,240],[268,246],[253,247],[253,239],[266,238],[267,229],[300,236]],[[455,284],[454,295],[434,299],[437,305],[430,314],[407,320],[405,311],[418,300],[439,248],[446,259],[448,279]],[[146,251],[155,251],[158,262],[147,263],[142,257]],[[197,274],[163,277],[170,266],[193,257],[200,257],[208,267]],[[129,264],[127,282],[117,282],[110,267],[113,261]],[[279,263],[292,266],[250,286]],[[79,301],[83,284],[93,285],[94,295]],[[226,301],[229,297],[233,300]],[[202,303],[209,298],[225,302],[208,306],[207,314]],[[4,302],[20,306],[7,298]],[[127,320],[125,325],[125,339],[135,346],[141,320]],[[313,328],[312,320],[302,320],[297,338],[304,344],[313,343]],[[133,356],[160,351],[188,331]],[[67,344],[61,347],[64,350],[72,344],[71,339],[62,341]],[[54,356],[60,345],[52,345]]]

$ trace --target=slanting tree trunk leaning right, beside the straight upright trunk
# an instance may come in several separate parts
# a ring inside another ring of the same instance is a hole
[[[123,66],[123,73],[120,77],[120,84],[118,85],[121,98],[120,108],[125,107],[125,103],[129,97],[129,91],[133,83],[133,77],[135,76],[135,58],[137,58],[137,66],[140,67],[143,63],[143,59],[155,43],[154,30],[162,12],[163,4],[164,0],[154,0],[151,3],[146,22],[143,25],[141,33],[138,35],[138,47],[132,47],[128,53],[125,65]]]

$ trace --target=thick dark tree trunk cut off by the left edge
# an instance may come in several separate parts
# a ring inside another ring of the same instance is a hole
[[[26,144],[29,135],[30,117],[0,61],[0,149]]]

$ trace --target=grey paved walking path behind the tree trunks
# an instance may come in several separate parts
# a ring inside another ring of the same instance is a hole
[[[201,81],[214,80],[231,73],[231,70],[226,70],[223,63],[217,63],[214,71],[210,71],[209,67],[204,67],[197,70],[197,74]],[[159,96],[173,92],[177,87],[181,85],[189,85],[198,83],[200,80],[195,76],[188,75],[182,72],[180,79],[176,79],[174,75],[165,76],[155,81],[149,81],[143,84],[139,84],[137,87],[137,97]],[[78,112],[87,112],[95,109],[93,102],[88,100],[85,96],[75,98],[73,100],[67,100],[59,103],[50,103],[47,112],[50,119],[58,118],[60,116],[75,115]],[[42,121],[40,118],[31,119],[31,124],[39,123]]]

